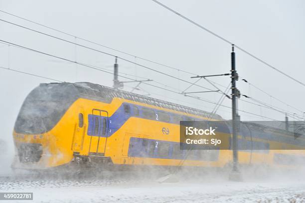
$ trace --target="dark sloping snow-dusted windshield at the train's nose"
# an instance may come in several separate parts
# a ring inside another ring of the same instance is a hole
[[[40,134],[51,130],[77,95],[71,84],[41,84],[23,102],[15,122],[15,132]]]

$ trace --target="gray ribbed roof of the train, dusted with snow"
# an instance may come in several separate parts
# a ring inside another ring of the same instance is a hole
[[[108,102],[110,103],[113,98],[122,98],[126,100],[131,100],[135,102],[141,102],[146,104],[151,104],[158,107],[168,108],[180,112],[190,113],[194,115],[199,115],[203,117],[211,117],[214,119],[222,120],[222,117],[218,114],[212,114],[210,112],[172,103],[166,102],[158,99],[154,99],[151,97],[130,93],[127,91],[116,90],[114,88],[88,83],[88,82],[79,82],[79,83],[51,83],[51,84],[66,84],[67,86],[73,85],[78,92],[80,93],[80,97],[85,97],[87,99],[95,99],[98,101]]]

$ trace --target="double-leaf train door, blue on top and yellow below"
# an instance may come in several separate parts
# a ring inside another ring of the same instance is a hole
[[[88,135],[90,137],[89,154],[94,155],[105,155],[108,128],[109,128],[109,117],[108,112],[100,109],[92,109],[92,114],[89,117],[90,130]]]

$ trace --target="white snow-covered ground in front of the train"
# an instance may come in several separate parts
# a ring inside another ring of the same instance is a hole
[[[35,203],[305,203],[303,180],[0,180],[0,192],[33,192]]]

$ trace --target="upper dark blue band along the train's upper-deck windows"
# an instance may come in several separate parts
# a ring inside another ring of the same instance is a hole
[[[148,110],[151,111],[151,113],[148,115]],[[161,116],[163,115],[163,116]],[[164,115],[167,115],[168,117],[164,117]],[[198,118],[190,117],[181,115],[178,113],[172,113],[164,110],[157,110],[154,108],[144,107],[141,105],[131,104],[131,103],[123,103],[116,112],[109,117],[107,122],[107,132],[102,133],[103,126],[98,127],[98,133],[94,133],[95,129],[95,123],[94,123],[94,117],[98,117],[99,123],[103,121],[103,119],[107,119],[105,116],[99,116],[99,115],[88,115],[88,135],[92,136],[101,136],[101,137],[109,137],[113,133],[115,133],[120,127],[123,126],[123,124],[130,118],[130,117],[140,117],[150,120],[156,120],[164,123],[174,123],[179,124],[179,119],[183,121],[188,120],[198,120]],[[213,122],[213,121],[207,121],[207,122]],[[166,127],[166,126],[164,126]],[[219,124],[217,131],[219,132],[225,132],[230,133],[231,132],[231,126],[227,126],[224,124]],[[240,135],[248,138],[261,138],[266,139],[270,141],[277,141],[287,144],[293,144],[293,145],[302,145],[305,146],[305,140],[304,139],[294,139],[293,137],[287,137],[281,134],[272,134],[272,133],[266,133],[261,131],[252,130],[250,131],[245,125],[241,125],[240,129]]]

